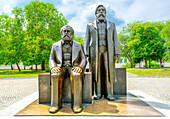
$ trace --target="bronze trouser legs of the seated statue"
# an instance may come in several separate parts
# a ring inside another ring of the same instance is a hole
[[[71,81],[71,106],[82,107],[82,74],[71,71],[72,67],[63,67],[59,74],[51,75],[51,107],[62,107],[62,82],[67,76]]]

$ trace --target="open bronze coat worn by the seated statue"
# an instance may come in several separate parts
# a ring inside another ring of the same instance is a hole
[[[54,43],[51,49],[49,65],[50,69],[53,67],[62,66],[62,42],[61,40]],[[79,66],[84,70],[86,66],[86,58],[81,43],[72,42],[72,66]]]

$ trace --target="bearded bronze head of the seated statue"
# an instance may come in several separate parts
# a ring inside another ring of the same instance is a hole
[[[73,39],[74,30],[71,26],[65,25],[61,28],[60,34],[64,41],[71,41]]]

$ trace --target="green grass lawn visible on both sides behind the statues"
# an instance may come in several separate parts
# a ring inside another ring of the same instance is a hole
[[[170,68],[164,69],[139,69],[139,68],[127,68],[128,73],[132,73],[138,76],[170,76]],[[17,69],[0,69],[0,78],[16,78],[16,77],[38,77],[38,74],[49,73],[45,71],[38,71],[21,69],[19,72]]]

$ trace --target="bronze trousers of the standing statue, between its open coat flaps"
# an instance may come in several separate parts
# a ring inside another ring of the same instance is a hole
[[[95,83],[97,97],[113,96],[113,84],[109,80],[108,51],[107,46],[99,46],[98,80]]]

